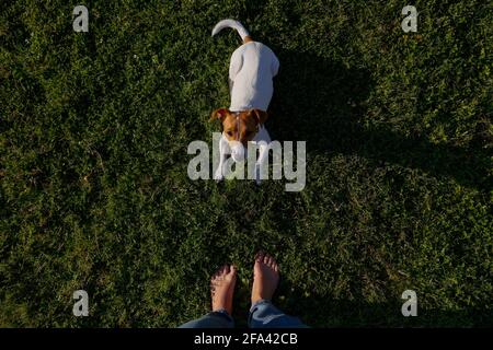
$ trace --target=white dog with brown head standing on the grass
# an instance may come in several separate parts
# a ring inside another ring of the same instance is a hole
[[[243,44],[231,55],[229,66],[229,108],[218,108],[210,119],[219,119],[222,135],[219,140],[219,166],[214,178],[225,177],[225,162],[228,154],[234,162],[246,159],[248,142],[259,147],[255,162],[255,180],[261,182],[261,165],[268,159],[271,137],[264,126],[267,108],[274,93],[273,78],[279,70],[276,55],[262,43],[254,42],[244,26],[234,20],[222,20],[213,30],[213,36],[230,27],[238,32]]]

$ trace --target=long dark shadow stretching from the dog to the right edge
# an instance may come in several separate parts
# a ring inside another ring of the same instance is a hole
[[[376,127],[364,120],[375,85],[369,71],[309,52],[273,49],[280,61],[267,120],[274,140],[307,141],[308,156],[358,154],[376,166],[393,163],[466,186],[488,186],[485,140],[465,149],[434,144],[426,136],[400,135],[381,121]]]

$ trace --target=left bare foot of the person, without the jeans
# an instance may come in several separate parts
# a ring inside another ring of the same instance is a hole
[[[232,265],[223,265],[214,273],[210,279],[213,311],[226,310],[231,315],[236,281],[237,269]]]

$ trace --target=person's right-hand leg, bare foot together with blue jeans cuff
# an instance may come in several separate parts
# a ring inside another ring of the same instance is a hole
[[[253,266],[252,307],[249,315],[250,328],[305,328],[296,317],[288,316],[275,307],[271,299],[279,282],[279,266],[263,252],[255,256]]]

